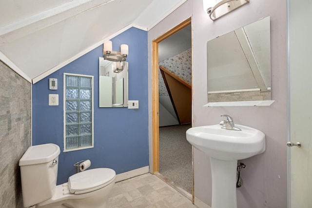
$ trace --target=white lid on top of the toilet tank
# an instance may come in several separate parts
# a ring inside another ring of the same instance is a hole
[[[20,166],[48,163],[58,157],[59,153],[59,146],[55,144],[30,146],[20,158]]]

